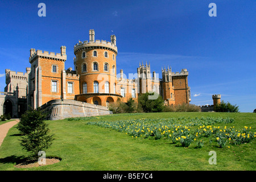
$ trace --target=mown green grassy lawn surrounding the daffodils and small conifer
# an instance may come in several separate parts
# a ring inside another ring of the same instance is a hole
[[[120,121],[140,118],[195,118],[195,117],[230,117],[233,123],[216,123],[214,126],[244,126],[256,132],[255,113],[139,113],[114,114],[90,117],[81,121],[46,121],[51,133],[55,134],[47,156],[56,156],[59,163],[38,168],[13,167],[28,154],[19,144],[19,133],[14,126],[9,130],[0,147],[0,170],[255,170],[255,142],[240,145],[227,144],[219,148],[217,141],[205,141],[203,148],[196,148],[196,143],[185,148],[171,139],[133,138],[131,135],[104,127],[87,125],[96,121]],[[198,126],[195,126],[196,129]],[[228,146],[230,148],[228,148]],[[210,165],[209,151],[217,154],[217,164]]]

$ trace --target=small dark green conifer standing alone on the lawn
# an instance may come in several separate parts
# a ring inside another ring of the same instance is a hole
[[[44,122],[46,114],[40,110],[27,110],[22,114],[18,130],[22,135],[20,145],[36,157],[39,151],[45,151],[52,144],[53,135],[48,135],[48,124]]]

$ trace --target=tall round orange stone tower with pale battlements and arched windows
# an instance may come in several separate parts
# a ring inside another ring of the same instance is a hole
[[[76,100],[107,106],[122,97],[116,94],[116,37],[111,35],[111,42],[106,42],[94,40],[94,36],[94,30],[89,30],[89,42],[79,41],[74,46],[75,70],[80,75],[80,94]]]

